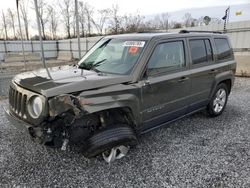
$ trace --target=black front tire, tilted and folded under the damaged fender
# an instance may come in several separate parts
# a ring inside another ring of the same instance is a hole
[[[87,158],[95,157],[113,147],[131,146],[137,143],[134,130],[128,125],[116,125],[104,128],[87,139],[83,154]]]

